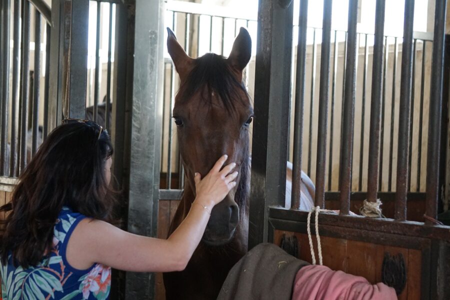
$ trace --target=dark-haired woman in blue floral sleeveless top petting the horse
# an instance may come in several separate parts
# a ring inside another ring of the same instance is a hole
[[[11,202],[0,207],[4,300],[106,299],[110,267],[126,271],[183,269],[212,207],[236,184],[234,163],[220,157],[201,179],[190,212],[167,238],[123,231],[109,222],[112,145],[101,126],[68,119],[39,147],[19,177]]]

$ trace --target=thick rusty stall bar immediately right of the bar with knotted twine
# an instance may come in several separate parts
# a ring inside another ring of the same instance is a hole
[[[397,182],[395,186],[395,219],[406,219],[408,191],[409,117],[412,78],[412,25],[414,0],[404,2],[403,44],[401,48],[400,105],[398,114]]]

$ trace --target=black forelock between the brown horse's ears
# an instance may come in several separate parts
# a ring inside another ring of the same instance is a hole
[[[203,92],[205,88],[206,93]],[[203,100],[209,104],[212,103],[211,93],[216,92],[228,112],[234,110],[234,100],[239,98],[239,90],[248,96],[244,84],[236,79],[226,58],[214,53],[206,53],[194,60],[194,67],[178,94],[181,99],[187,100],[199,90]]]

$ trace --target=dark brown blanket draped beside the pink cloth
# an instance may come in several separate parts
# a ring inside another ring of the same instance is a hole
[[[261,243],[231,268],[217,299],[289,300],[297,271],[308,264],[272,243]]]

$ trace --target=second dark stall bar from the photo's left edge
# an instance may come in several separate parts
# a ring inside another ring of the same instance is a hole
[[[9,147],[9,176],[15,177],[17,168],[17,105],[19,101],[19,50],[20,50],[20,1],[14,0],[13,15],[14,42],[12,49],[12,103],[11,103],[11,145]]]

